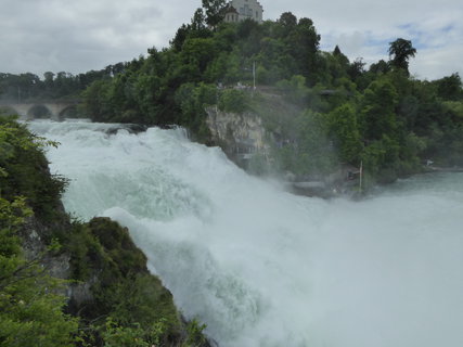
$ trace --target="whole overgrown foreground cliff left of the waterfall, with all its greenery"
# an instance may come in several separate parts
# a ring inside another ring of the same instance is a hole
[[[0,116],[0,346],[205,346],[127,229],[70,222],[44,145]]]

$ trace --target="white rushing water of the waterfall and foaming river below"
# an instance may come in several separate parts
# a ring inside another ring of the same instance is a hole
[[[34,123],[68,211],[110,216],[224,347],[463,346],[463,175],[294,196],[180,130]],[[114,127],[113,127],[114,128]]]

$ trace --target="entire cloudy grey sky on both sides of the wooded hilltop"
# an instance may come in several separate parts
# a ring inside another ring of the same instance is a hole
[[[309,17],[321,48],[350,60],[387,60],[401,37],[417,50],[411,73],[463,77],[462,0],[260,0],[265,18]],[[83,73],[168,46],[201,0],[0,0],[0,73]]]

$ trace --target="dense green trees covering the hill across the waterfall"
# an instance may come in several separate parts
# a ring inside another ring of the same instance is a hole
[[[93,82],[82,94],[87,114],[99,121],[178,124],[207,142],[208,105],[250,111],[275,139],[273,168],[298,176],[363,163],[372,181],[391,181],[426,159],[463,165],[460,76],[410,77],[411,41],[390,42],[390,61],[365,69],[338,47],[321,51],[309,18],[286,12],[262,24],[215,23],[220,1],[204,2],[169,48],[150,49],[121,74]],[[268,106],[284,102],[286,110]]]

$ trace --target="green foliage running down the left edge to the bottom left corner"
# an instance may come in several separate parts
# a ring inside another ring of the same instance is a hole
[[[78,321],[62,311],[65,298],[56,291],[63,283],[40,267],[42,255],[27,259],[22,250],[20,232],[26,218],[35,210],[50,217],[48,207],[62,187],[61,181],[38,177],[43,174],[42,144],[24,127],[0,117],[0,346],[5,347],[72,346],[78,327]],[[28,167],[33,170],[26,172],[38,174],[21,176],[24,182],[16,184],[13,176]]]

